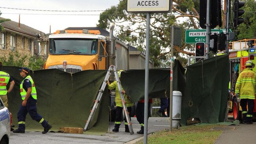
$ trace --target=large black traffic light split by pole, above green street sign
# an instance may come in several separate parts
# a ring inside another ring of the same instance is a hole
[[[199,25],[201,28],[206,28],[206,8],[207,0],[200,0],[199,2]],[[221,0],[211,0],[210,1],[210,24],[211,28],[216,26],[222,26],[222,17],[221,17]]]

